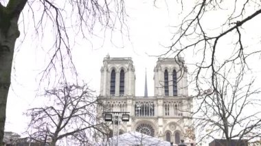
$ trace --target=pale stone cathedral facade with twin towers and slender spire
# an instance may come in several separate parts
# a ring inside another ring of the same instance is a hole
[[[181,64],[183,59],[177,62],[174,58],[158,58],[154,69],[155,95],[148,97],[145,82],[144,97],[137,97],[132,58],[106,56],[101,69],[101,120],[104,112],[129,112],[130,120],[119,125],[120,134],[137,131],[171,143],[180,143],[181,139],[192,143],[192,98],[188,97],[186,68]]]

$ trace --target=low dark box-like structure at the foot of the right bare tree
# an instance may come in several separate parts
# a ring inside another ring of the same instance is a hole
[[[248,143],[245,140],[231,139],[228,145],[226,139],[214,139],[209,146],[248,146]]]

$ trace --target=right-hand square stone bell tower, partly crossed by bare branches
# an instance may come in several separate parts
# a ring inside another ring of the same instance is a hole
[[[184,60],[159,58],[154,69],[155,96],[188,97],[188,81]]]

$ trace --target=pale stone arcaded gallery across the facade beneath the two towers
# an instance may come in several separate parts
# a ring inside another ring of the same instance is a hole
[[[121,96],[107,97],[104,99],[106,99],[106,111],[128,111],[131,112],[131,116],[144,118],[158,116],[183,117],[181,109],[185,106],[182,104],[183,99],[185,99],[183,97],[163,97],[161,106],[159,106],[157,97],[128,98],[126,96]],[[128,104],[129,99],[131,99],[131,105]]]

